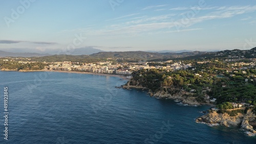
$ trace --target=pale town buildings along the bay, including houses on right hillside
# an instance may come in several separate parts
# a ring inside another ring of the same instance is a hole
[[[231,56],[229,56],[230,58]],[[237,58],[237,57],[235,57]],[[2,62],[1,62],[2,61]],[[186,61],[159,61],[159,62],[147,62],[147,61],[138,61],[138,62],[113,62],[113,61],[103,61],[103,62],[93,62],[93,63],[79,63],[72,61],[62,61],[62,62],[41,62],[44,64],[43,69],[47,70],[62,70],[62,71],[83,71],[87,73],[96,73],[96,74],[111,74],[111,75],[125,75],[131,76],[133,71],[141,69],[162,69],[167,72],[175,70],[186,70],[192,67],[193,70],[197,68],[200,64],[207,63],[219,63],[224,65],[225,74],[228,73],[230,77],[235,77],[236,74],[242,73],[245,77],[244,81],[256,81],[256,75],[248,75],[247,69],[254,67],[256,64],[256,59],[246,59],[247,62],[241,61],[241,59],[224,59],[222,62],[219,60],[214,61],[196,61],[193,64]],[[31,61],[31,58],[14,58],[14,57],[5,57],[0,58],[1,69],[8,70],[8,68],[3,67],[3,64],[7,63],[9,65],[14,65],[15,63],[26,65],[31,63],[36,63],[37,61]],[[26,70],[26,69],[25,69]],[[31,70],[31,69],[27,69]],[[201,71],[204,71],[202,69]],[[216,70],[218,71],[218,69]],[[218,73],[218,72],[217,72]],[[218,73],[217,77],[223,77],[222,73]],[[246,75],[247,74],[247,75]],[[200,76],[200,74],[195,73],[195,75]],[[223,87],[226,85],[223,84]]]

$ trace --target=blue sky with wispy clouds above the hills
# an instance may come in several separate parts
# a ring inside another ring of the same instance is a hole
[[[256,46],[255,0],[0,3],[0,50],[207,51]]]

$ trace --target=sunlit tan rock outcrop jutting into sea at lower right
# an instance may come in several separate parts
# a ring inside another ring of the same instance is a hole
[[[237,116],[229,116],[227,113],[217,113],[216,111],[209,110],[209,113],[203,116],[200,116],[196,119],[197,123],[206,123],[208,125],[224,125],[226,127],[229,126],[241,126],[242,129],[246,130],[249,136],[256,135],[256,131],[250,125],[250,122],[256,122],[256,115],[251,112],[251,109],[247,111],[244,115],[242,113],[238,113]]]

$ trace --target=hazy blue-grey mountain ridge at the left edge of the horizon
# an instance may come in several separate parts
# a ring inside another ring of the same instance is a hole
[[[44,57],[50,56],[50,54],[38,54],[38,53],[12,53],[0,51],[0,57]]]

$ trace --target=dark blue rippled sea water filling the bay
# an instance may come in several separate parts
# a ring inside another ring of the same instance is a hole
[[[0,79],[0,143],[256,143],[239,128],[195,123],[208,106],[118,89],[126,81],[117,77],[0,71]]]

